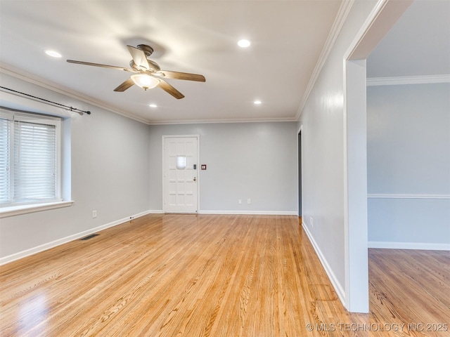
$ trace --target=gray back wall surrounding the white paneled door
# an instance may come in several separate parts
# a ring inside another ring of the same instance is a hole
[[[162,136],[189,134],[200,135],[207,165],[200,213],[297,214],[295,122],[150,126],[150,209],[162,210]]]

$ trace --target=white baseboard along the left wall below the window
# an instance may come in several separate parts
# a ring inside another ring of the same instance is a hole
[[[57,239],[55,241],[48,242],[46,244],[41,244],[40,246],[36,246],[36,247],[30,248],[30,249],[26,249],[25,251],[19,251],[18,253],[14,253],[14,254],[11,254],[9,256],[4,256],[3,258],[0,258],[0,265],[4,265],[6,263],[10,263],[10,262],[13,262],[15,260],[19,260],[20,258],[25,258],[27,256],[34,255],[35,253],[39,253],[41,251],[46,251],[47,249],[51,249],[51,248],[54,248],[56,246],[60,246],[61,244],[66,244],[66,243],[74,241],[76,239],[81,239],[82,237],[86,237],[89,234],[93,234],[95,232],[99,232],[101,230],[105,230],[107,228],[120,225],[122,223],[126,223],[127,221],[130,220],[130,218],[136,219],[136,218],[139,218],[141,216],[146,216],[149,213],[150,213],[150,211],[144,211],[144,212],[141,212],[141,213],[137,213],[137,214],[134,214],[133,216],[128,216],[128,217],[125,217],[125,218],[122,218],[122,219],[119,219],[119,220],[115,220],[112,223],[107,223],[105,225],[101,225],[101,226],[98,226],[98,227],[95,227],[95,228],[91,228],[89,230],[84,230],[83,232],[78,232],[76,234],[69,235],[68,237],[63,237],[61,239]]]

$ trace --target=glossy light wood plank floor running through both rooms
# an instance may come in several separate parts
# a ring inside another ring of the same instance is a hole
[[[296,216],[98,234],[0,268],[1,336],[450,336],[426,331],[450,329],[448,251],[370,250],[371,313],[349,314]]]

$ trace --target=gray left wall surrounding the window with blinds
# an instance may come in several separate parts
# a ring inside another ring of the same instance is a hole
[[[69,164],[65,197],[75,203],[61,209],[0,218],[0,258],[13,254],[20,257],[21,252],[26,255],[148,211],[148,125],[5,74],[1,74],[1,85],[91,110],[92,114],[72,114],[65,121],[66,131],[71,133],[71,145],[66,143],[69,146],[64,153]],[[22,103],[23,107],[32,105],[29,100]],[[48,106],[44,109],[54,110]],[[92,218],[94,209],[97,218]]]

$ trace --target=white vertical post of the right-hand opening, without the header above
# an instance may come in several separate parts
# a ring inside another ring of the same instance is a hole
[[[368,312],[366,60],[343,68],[345,308]]]

